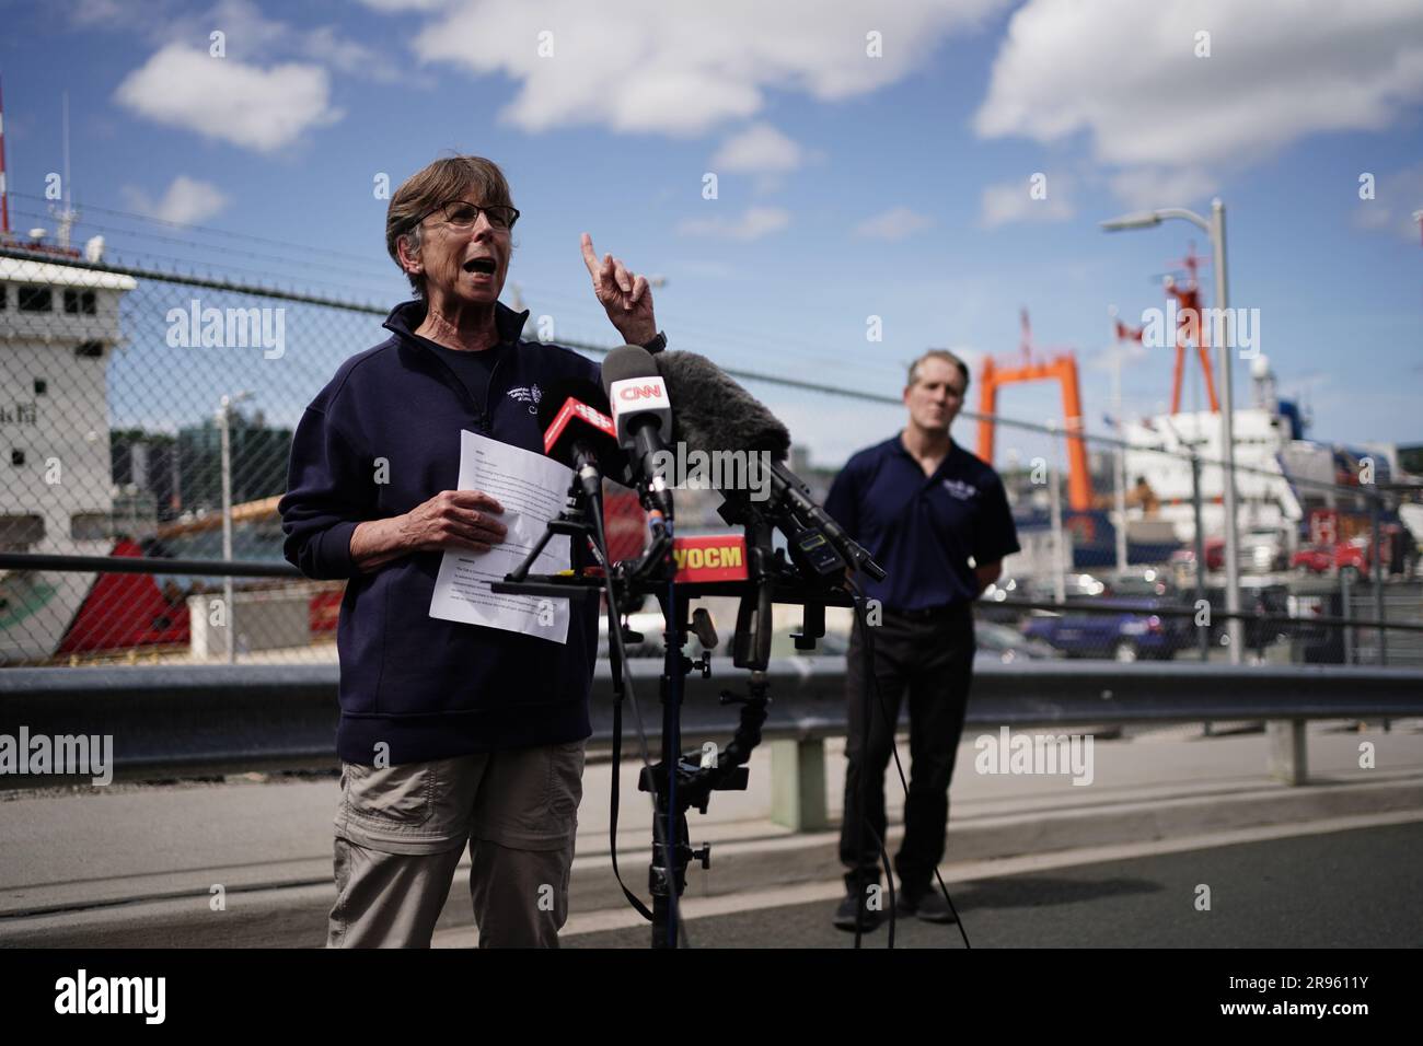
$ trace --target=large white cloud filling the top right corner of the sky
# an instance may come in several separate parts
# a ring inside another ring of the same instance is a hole
[[[1202,30],[1210,57],[1195,56]],[[1386,130],[1420,101],[1416,0],[1029,0],[975,130],[1084,135],[1109,165],[1195,169],[1198,194],[1201,168],[1245,168],[1311,134]]]

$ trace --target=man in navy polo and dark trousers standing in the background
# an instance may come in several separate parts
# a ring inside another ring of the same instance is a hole
[[[848,872],[834,916],[841,929],[852,931],[857,919],[874,929],[884,918],[882,905],[869,898],[878,892],[887,828],[885,767],[906,693],[911,764],[904,841],[895,855],[898,908],[929,922],[953,921],[935,868],[943,857],[949,781],[973,679],[972,605],[1002,574],[1003,556],[1020,548],[998,472],[949,437],[968,386],[968,367],[949,352],[933,349],[915,360],[904,390],[908,424],[851,457],[825,500],[825,511],[887,571],[885,581],[869,581],[865,592],[882,612],[881,623],[871,618],[868,720],[859,620],[847,655],[850,766],[840,860]]]

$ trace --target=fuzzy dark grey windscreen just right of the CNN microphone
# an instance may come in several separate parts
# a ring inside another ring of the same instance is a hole
[[[665,352],[653,359],[676,404],[673,441],[709,454],[766,451],[773,461],[790,455],[791,434],[785,426],[706,356]]]

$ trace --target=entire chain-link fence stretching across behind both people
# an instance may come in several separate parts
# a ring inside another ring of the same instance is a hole
[[[98,572],[11,555],[0,663],[334,660],[343,585],[295,576],[276,502],[302,410],[342,360],[386,337],[386,312],[34,245],[0,250],[0,552],[162,561]],[[902,426],[895,397],[729,370],[793,430],[797,417],[842,418],[868,444]],[[1229,656],[1225,549],[1211,537],[1225,524],[1218,414],[1123,423],[1111,437],[961,417],[955,437],[970,450],[1005,444],[998,468],[1023,544],[982,601],[980,656]],[[1423,663],[1419,529],[1407,525],[1419,491],[1397,482],[1395,461],[1295,438],[1281,417],[1258,404],[1237,420],[1242,652]],[[801,448],[791,464],[822,500],[834,470]],[[717,501],[679,494],[680,529],[727,529]],[[630,554],[635,498],[610,498],[608,525]],[[221,561],[242,566],[212,574]],[[821,649],[834,653],[848,618],[830,625]],[[791,653],[781,630],[777,650]]]

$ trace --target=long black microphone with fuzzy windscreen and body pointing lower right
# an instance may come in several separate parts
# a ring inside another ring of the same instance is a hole
[[[879,564],[811,500],[810,487],[781,464],[790,454],[791,435],[760,400],[696,353],[662,353],[655,366],[677,400],[673,437],[686,444],[689,454],[693,450],[707,454],[750,451],[770,457],[771,511],[787,515],[797,528],[798,532],[787,538],[815,574],[830,576],[848,562],[875,581],[885,579]],[[733,491],[730,497],[737,502],[748,501],[746,491]],[[827,544],[838,556],[827,555]]]

